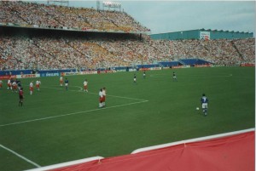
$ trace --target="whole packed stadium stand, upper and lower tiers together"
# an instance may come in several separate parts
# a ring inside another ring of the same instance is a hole
[[[255,64],[255,38],[153,40],[124,12],[5,1],[0,9],[0,70]]]

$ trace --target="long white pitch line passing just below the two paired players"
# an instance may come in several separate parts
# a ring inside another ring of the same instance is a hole
[[[21,123],[32,123],[32,122],[52,119],[52,118],[56,118],[56,117],[67,117],[67,116],[71,116],[71,115],[77,115],[77,114],[80,114],[80,113],[89,113],[91,111],[102,111],[102,110],[105,110],[105,109],[111,109],[111,108],[121,107],[121,106],[125,106],[125,105],[135,105],[135,104],[145,103],[145,102],[148,102],[148,100],[137,101],[137,102],[133,102],[133,103],[127,103],[127,104],[124,104],[124,105],[113,105],[113,106],[110,106],[110,107],[98,108],[98,109],[93,109],[93,110],[89,110],[89,111],[77,111],[77,112],[67,113],[67,114],[58,115],[58,116],[54,116],[54,117],[42,117],[42,118],[38,118],[38,119],[21,121],[21,122],[17,122],[17,123],[7,123],[7,124],[0,125],[0,127],[6,127],[6,126],[9,126],[9,125],[17,125],[17,124],[21,124]]]

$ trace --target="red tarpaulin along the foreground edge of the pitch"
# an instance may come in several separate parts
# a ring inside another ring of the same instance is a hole
[[[52,171],[254,171],[254,131],[173,145]]]

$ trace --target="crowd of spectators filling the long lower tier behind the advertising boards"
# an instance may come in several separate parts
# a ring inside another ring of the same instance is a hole
[[[1,70],[135,66],[180,59],[255,64],[255,39],[152,40],[0,36]]]

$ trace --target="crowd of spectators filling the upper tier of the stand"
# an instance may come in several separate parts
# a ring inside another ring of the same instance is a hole
[[[0,23],[94,31],[149,31],[124,12],[0,1]]]

